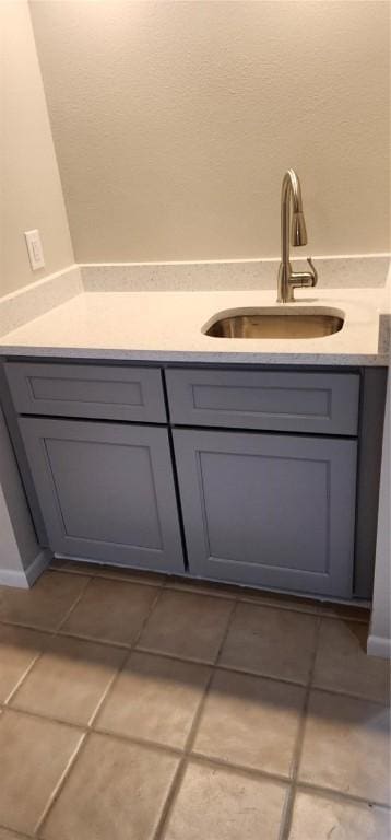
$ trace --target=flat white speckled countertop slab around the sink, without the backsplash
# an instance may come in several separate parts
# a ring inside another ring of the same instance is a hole
[[[337,310],[341,331],[323,338],[222,339],[202,328],[217,313],[275,306],[275,291],[85,292],[0,338],[9,357],[67,357],[131,361],[223,363],[388,364],[380,341],[380,314],[389,311],[388,290],[315,289],[296,291],[298,306]],[[380,337],[381,338],[381,337]]]

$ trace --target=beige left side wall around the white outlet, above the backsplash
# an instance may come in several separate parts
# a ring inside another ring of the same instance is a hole
[[[28,3],[0,2],[0,295],[73,262]],[[46,267],[32,271],[23,231],[38,228]]]

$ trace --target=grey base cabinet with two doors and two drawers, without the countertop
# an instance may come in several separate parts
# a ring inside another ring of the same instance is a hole
[[[386,369],[4,354],[57,557],[370,598]]]

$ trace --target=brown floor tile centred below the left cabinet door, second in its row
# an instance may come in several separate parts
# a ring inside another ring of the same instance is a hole
[[[130,644],[158,592],[154,586],[93,579],[61,631]]]

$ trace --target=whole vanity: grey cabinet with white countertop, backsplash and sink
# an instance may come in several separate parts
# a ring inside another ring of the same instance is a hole
[[[74,267],[0,302],[0,398],[42,547],[370,599],[388,262],[317,266],[321,290],[284,304],[273,262]]]

